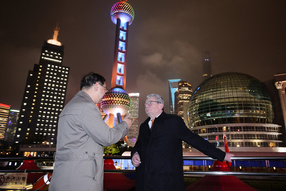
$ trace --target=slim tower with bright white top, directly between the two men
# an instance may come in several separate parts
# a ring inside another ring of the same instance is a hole
[[[138,125],[139,125],[139,93],[131,93],[128,94],[131,98],[131,107],[128,111],[130,113],[129,119],[132,121],[132,125],[129,129],[129,133],[127,135],[129,146],[134,146],[136,140],[138,138]]]

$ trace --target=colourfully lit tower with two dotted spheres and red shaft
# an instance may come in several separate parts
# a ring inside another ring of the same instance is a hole
[[[116,124],[114,116],[117,116],[117,121],[121,121],[121,117],[130,109],[131,99],[125,91],[126,57],[128,28],[133,21],[134,11],[126,0],[121,0],[111,8],[110,15],[116,24],[113,69],[111,89],[102,98],[101,107],[109,115],[108,125],[112,128]]]

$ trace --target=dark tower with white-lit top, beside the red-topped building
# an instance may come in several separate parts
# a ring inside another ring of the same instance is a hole
[[[19,110],[10,109],[9,111],[7,126],[3,140],[9,142],[10,145],[14,143],[14,137],[17,129],[19,114],[20,114]]]

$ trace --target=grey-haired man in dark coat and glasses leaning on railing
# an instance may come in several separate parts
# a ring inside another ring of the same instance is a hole
[[[180,116],[166,114],[160,95],[148,95],[144,106],[149,117],[141,124],[131,151],[136,167],[136,191],[185,190],[182,141],[211,158],[231,162],[233,154],[193,133]]]

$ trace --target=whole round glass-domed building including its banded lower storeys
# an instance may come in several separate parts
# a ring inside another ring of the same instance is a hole
[[[258,79],[236,72],[214,75],[192,94],[188,107],[189,128],[224,146],[282,147],[280,126],[273,124],[270,95]]]

